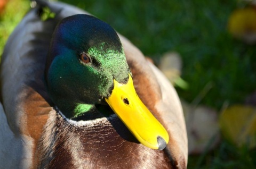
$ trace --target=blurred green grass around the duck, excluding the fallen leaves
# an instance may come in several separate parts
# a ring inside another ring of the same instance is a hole
[[[188,89],[177,88],[191,103],[207,86],[203,105],[220,111],[224,104],[244,104],[255,91],[256,47],[227,31],[232,11],[243,3],[222,1],[103,1],[63,0],[107,22],[146,56],[159,63],[169,51],[181,55],[181,78]],[[0,52],[15,25],[29,9],[28,0],[9,0],[0,20]],[[255,21],[256,22],[256,21]],[[189,156],[188,168],[256,168],[256,151],[222,140],[212,151]]]

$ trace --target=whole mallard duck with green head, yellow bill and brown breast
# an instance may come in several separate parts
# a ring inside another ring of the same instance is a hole
[[[41,20],[48,7],[54,18]],[[6,43],[1,168],[186,168],[179,98],[107,23],[37,1]]]

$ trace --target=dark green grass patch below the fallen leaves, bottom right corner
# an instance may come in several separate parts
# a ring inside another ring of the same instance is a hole
[[[207,151],[201,156],[189,156],[188,168],[255,168],[256,149],[249,150],[243,146],[237,148],[231,143],[223,140],[218,149]]]

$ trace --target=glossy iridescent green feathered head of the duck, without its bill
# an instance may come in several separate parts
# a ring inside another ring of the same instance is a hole
[[[114,81],[126,83],[129,67],[117,33],[85,14],[63,19],[53,33],[47,56],[46,87],[68,118],[109,97]]]

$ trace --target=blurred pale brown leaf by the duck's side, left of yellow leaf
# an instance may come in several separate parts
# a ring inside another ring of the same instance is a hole
[[[181,103],[187,126],[189,154],[203,153],[206,148],[213,149],[220,140],[217,112],[209,107]]]

